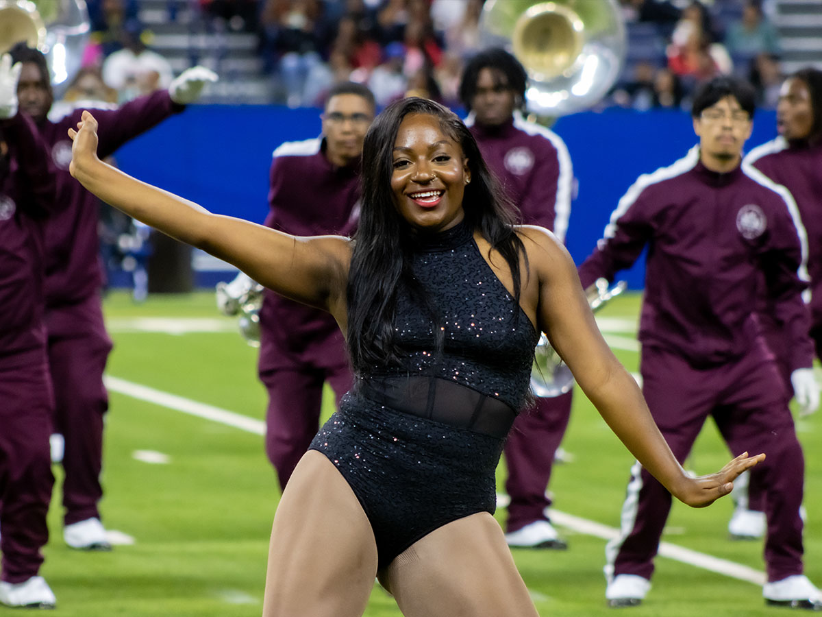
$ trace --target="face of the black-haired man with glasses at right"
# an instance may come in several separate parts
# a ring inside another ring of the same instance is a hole
[[[703,109],[699,118],[694,118],[703,165],[718,172],[735,169],[753,127],[748,112],[732,96]]]

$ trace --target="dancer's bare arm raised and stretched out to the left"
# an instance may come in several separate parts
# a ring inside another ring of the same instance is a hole
[[[350,260],[347,239],[298,238],[211,214],[99,160],[97,122],[89,112],[83,112],[77,127],[69,130],[74,140],[70,170],[90,193],[164,234],[233,264],[261,285],[339,314]]]

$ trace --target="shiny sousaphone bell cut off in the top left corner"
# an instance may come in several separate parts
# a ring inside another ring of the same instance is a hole
[[[21,41],[43,52],[55,96],[80,70],[89,33],[85,0],[0,0],[0,53]]]

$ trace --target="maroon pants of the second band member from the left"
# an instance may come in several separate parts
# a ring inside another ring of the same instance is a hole
[[[54,386],[54,431],[62,434],[64,522],[99,518],[103,497],[103,416],[109,396],[103,373],[111,339],[97,295],[78,304],[48,308],[48,368]]]

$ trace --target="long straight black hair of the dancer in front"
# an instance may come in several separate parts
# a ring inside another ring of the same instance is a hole
[[[390,186],[399,124],[409,114],[437,118],[442,131],[462,146],[471,172],[463,197],[465,224],[479,230],[505,258],[513,276],[515,302],[520,301],[524,246],[513,229],[516,210],[502,197],[477,141],[456,114],[441,104],[418,97],[395,101],[376,117],[363,142],[363,199],[347,293],[349,355],[358,372],[399,358],[391,325],[398,287],[407,285],[426,302],[424,290],[411,274],[416,232],[399,214]],[[441,331],[435,328],[435,332]],[[441,340],[437,344],[441,346]]]

